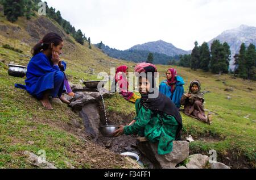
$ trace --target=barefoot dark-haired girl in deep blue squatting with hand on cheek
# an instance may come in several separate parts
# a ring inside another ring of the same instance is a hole
[[[56,33],[50,32],[43,37],[43,40],[33,48],[33,57],[27,66],[26,85],[15,87],[28,91],[31,95],[39,99],[42,105],[48,110],[52,110],[49,97],[60,98],[64,103],[69,103],[64,98],[64,71],[66,64],[61,61],[61,49],[63,48],[63,39]]]

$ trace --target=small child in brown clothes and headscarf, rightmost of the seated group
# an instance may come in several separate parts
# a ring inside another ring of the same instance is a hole
[[[205,116],[204,111],[204,94],[201,93],[201,83],[194,80],[190,83],[189,92],[181,97],[181,105],[184,105],[184,113],[192,118],[196,118],[201,122],[212,123],[212,115]]]

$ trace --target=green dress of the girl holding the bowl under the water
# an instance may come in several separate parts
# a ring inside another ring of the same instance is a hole
[[[135,103],[136,122],[126,126],[125,135],[135,135],[146,137],[152,143],[159,142],[158,154],[168,154],[172,152],[172,141],[175,140],[178,123],[174,116],[160,114],[145,108],[141,104],[141,99]]]

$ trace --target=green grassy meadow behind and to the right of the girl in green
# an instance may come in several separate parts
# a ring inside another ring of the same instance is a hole
[[[232,155],[234,159],[244,156],[250,163],[251,167],[256,168],[256,83],[233,79],[229,75],[216,76],[201,71],[192,71],[187,68],[180,68],[179,74],[185,81],[185,90],[188,90],[189,82],[192,79],[200,79],[203,89],[210,91],[205,95],[205,108],[217,115],[213,116],[213,124],[208,125],[201,123],[196,119],[190,118],[183,113],[183,133],[192,135],[195,142],[190,144],[191,152],[208,154],[210,149],[217,150],[217,154],[225,156]],[[159,65],[160,79],[164,79],[164,72],[167,66]],[[221,81],[216,81],[221,79]],[[226,82],[226,85],[222,83]],[[233,92],[226,92],[226,87],[234,87]],[[247,87],[253,88],[248,91]],[[227,99],[228,95],[233,95],[231,100]],[[107,108],[110,111],[134,112],[132,104],[123,99],[114,97],[106,100]],[[244,118],[250,115],[249,119]],[[214,141],[201,141],[201,137],[212,137]],[[220,160],[220,159],[219,159]]]

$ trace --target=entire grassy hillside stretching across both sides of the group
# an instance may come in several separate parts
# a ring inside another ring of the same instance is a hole
[[[127,64],[132,70],[135,65],[110,58],[95,47],[89,49],[86,43],[76,43],[56,22],[44,16],[30,21],[19,18],[11,24],[0,14],[0,44],[23,51],[0,47],[0,168],[34,168],[22,151],[37,154],[40,149],[47,151],[47,160],[57,168],[68,168],[67,162],[76,168],[136,168],[133,162],[92,143],[82,133],[81,119],[64,104],[53,104],[54,111],[46,111],[25,91],[14,88],[14,83],[24,83],[24,78],[8,76],[7,64],[27,65],[31,47],[49,31],[64,37],[61,58],[68,63],[67,74],[73,83],[79,83],[81,78],[97,79],[99,72],[109,73],[110,67]],[[168,68],[158,66],[160,80]],[[210,126],[183,114],[184,136],[192,135],[196,140],[191,143],[191,152],[207,154],[215,149],[218,161],[233,168],[256,168],[256,83],[229,75],[176,68],[186,81],[186,90],[189,81],[200,79],[203,91],[210,91],[205,95],[205,108],[216,113]],[[224,91],[230,86],[233,92]],[[228,100],[228,95],[232,99]],[[135,112],[134,104],[118,95],[106,99],[106,108],[109,115],[115,112],[126,116]],[[77,123],[80,125],[74,125]]]

